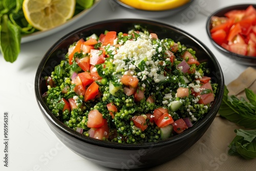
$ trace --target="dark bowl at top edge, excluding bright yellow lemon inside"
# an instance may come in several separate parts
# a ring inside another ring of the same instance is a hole
[[[171,15],[175,15],[176,13],[186,9],[187,7],[189,7],[189,5],[194,1],[191,0],[190,2],[177,7],[177,8],[173,8],[173,9],[169,9],[169,10],[161,10],[161,11],[150,11],[150,10],[141,10],[141,9],[136,9],[134,7],[131,7],[129,5],[126,5],[118,0],[114,0],[118,5],[120,5],[121,7],[123,7],[126,10],[129,10],[131,12],[137,13],[139,15],[143,15],[146,17],[150,17],[150,18],[164,18],[164,17],[168,17]]]

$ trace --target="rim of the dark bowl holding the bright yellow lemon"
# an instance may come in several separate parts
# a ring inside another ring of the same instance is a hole
[[[134,8],[134,7],[130,6],[130,5],[126,5],[126,4],[122,3],[119,0],[113,0],[113,1],[116,2],[117,4],[119,4],[120,6],[125,7],[127,9],[130,9],[130,10],[137,10],[137,11],[140,11],[140,12],[164,13],[164,12],[168,12],[168,11],[172,11],[172,10],[183,9],[184,7],[186,7],[189,4],[191,4],[194,0],[190,0],[188,3],[186,3],[186,4],[182,5],[182,6],[179,6],[179,7],[176,7],[176,8],[172,8],[172,9],[167,9],[167,10],[142,10],[142,9]]]

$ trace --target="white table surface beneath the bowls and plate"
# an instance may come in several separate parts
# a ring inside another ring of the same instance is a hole
[[[204,4],[204,8],[199,6]],[[247,66],[240,65],[218,52],[211,44],[207,33],[207,12],[221,7],[256,3],[255,0],[196,0],[190,7],[174,16],[158,20],[174,25],[201,40],[218,59],[223,70],[225,83],[237,78]],[[194,7],[194,11],[193,8]],[[199,7],[199,8],[196,8]],[[197,9],[198,11],[195,11]],[[194,13],[193,13],[194,12]],[[184,17],[191,15],[190,19]],[[53,35],[22,44],[18,59],[6,62],[0,54],[0,137],[4,141],[4,112],[9,113],[9,163],[4,166],[4,143],[0,143],[0,170],[117,170],[101,167],[85,160],[63,145],[51,132],[38,108],[34,94],[34,79],[37,66],[46,51],[59,38],[81,26],[105,19],[147,18],[123,9],[112,0],[102,0],[88,15],[75,24]],[[151,18],[148,18],[151,19]],[[252,161],[253,162],[253,161]],[[255,163],[255,161],[254,161]],[[193,167],[191,168],[193,170]],[[219,168],[218,170],[221,170]]]

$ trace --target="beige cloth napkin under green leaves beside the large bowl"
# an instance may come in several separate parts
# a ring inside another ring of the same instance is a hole
[[[236,80],[227,85],[229,95],[245,97],[244,89],[256,93],[256,70],[247,68]],[[236,136],[235,129],[242,127],[222,117],[217,117],[200,140],[185,153],[160,166],[147,170],[256,170],[256,159],[245,160],[238,156],[229,156],[228,145]]]

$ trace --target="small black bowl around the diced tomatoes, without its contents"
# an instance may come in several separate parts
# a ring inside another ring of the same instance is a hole
[[[242,64],[242,65],[248,65],[248,66],[256,66],[256,57],[253,56],[244,56],[244,55],[240,55],[237,53],[233,53],[230,52],[228,50],[226,50],[225,48],[221,47],[220,45],[218,45],[214,40],[212,40],[211,38],[211,34],[210,34],[210,29],[211,27],[211,17],[212,16],[218,16],[218,17],[223,17],[224,14],[228,11],[231,10],[245,10],[248,6],[250,6],[252,4],[241,4],[241,5],[234,5],[234,6],[228,6],[222,9],[219,9],[218,11],[211,13],[208,18],[207,18],[207,23],[206,23],[206,31],[208,34],[208,37],[210,38],[212,44],[214,44],[214,46],[221,52],[223,53],[225,56],[228,56],[234,60],[236,60],[238,63]],[[256,8],[256,4],[252,5],[254,8]]]

